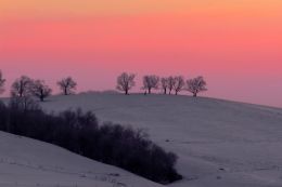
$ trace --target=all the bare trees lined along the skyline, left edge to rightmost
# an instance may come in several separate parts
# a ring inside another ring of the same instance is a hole
[[[123,72],[117,77],[118,91],[124,92],[126,95],[129,91],[136,86],[136,75]],[[4,92],[5,79],[0,70],[0,94]],[[72,78],[67,77],[56,82],[56,85],[64,95],[75,93],[77,82]],[[145,94],[151,94],[153,90],[162,90],[164,94],[176,94],[185,90],[197,96],[200,92],[206,91],[206,81],[203,77],[196,77],[193,79],[184,80],[182,76],[170,76],[170,77],[158,77],[155,75],[149,75],[143,77],[142,90]],[[11,96],[13,97],[38,97],[43,102],[47,97],[52,94],[52,89],[43,80],[34,80],[27,76],[17,78],[11,86]]]

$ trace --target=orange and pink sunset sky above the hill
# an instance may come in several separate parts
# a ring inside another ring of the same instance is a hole
[[[0,0],[0,69],[7,90],[21,75],[79,91],[123,71],[136,91],[146,74],[204,76],[204,96],[282,107],[281,34],[281,0]]]

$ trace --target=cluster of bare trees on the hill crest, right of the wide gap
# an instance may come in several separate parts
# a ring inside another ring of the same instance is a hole
[[[126,95],[136,85],[136,75],[123,72],[117,77],[116,89],[124,92]],[[169,76],[158,77],[155,75],[149,75],[143,77],[143,85],[141,89],[145,91],[144,94],[151,94],[152,90],[162,90],[164,94],[171,94],[172,92],[178,95],[179,92],[187,90],[197,96],[200,92],[207,91],[207,83],[202,76],[193,79],[184,80],[183,76]]]

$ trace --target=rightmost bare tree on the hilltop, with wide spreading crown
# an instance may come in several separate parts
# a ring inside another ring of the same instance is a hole
[[[202,76],[194,79],[189,79],[187,81],[187,90],[193,94],[194,97],[197,96],[197,93],[207,91],[206,81]]]

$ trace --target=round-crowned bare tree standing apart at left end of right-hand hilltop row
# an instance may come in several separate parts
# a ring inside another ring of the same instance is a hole
[[[129,90],[131,90],[136,85],[134,81],[136,75],[123,72],[120,76],[117,77],[117,85],[116,89],[125,92],[126,95],[129,94]]]

